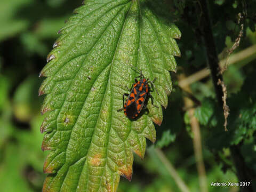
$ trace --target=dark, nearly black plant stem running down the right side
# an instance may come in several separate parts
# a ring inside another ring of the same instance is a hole
[[[206,51],[207,51],[207,59],[209,63],[209,67],[211,70],[211,75],[212,75],[212,81],[215,87],[215,92],[217,95],[218,99],[218,104],[219,107],[222,108],[223,106],[223,101],[222,101],[222,88],[221,85],[218,85],[219,79],[222,81],[222,75],[219,73],[219,66],[218,66],[218,57],[217,57],[217,52],[216,52],[216,46],[214,43],[214,38],[212,35],[212,29],[211,29],[211,21],[209,18],[209,10],[207,7],[206,0],[199,0],[199,3],[201,4],[202,7],[202,13],[201,13],[201,23],[200,25],[202,26],[202,33],[205,41],[205,46],[206,46]],[[252,182],[250,179],[249,170],[244,162],[244,158],[242,154],[240,153],[239,147],[238,146],[231,146],[230,147],[231,151],[231,156],[233,157],[234,160],[234,165],[236,167],[237,171],[237,177],[239,181],[241,182]],[[242,187],[240,188],[241,191],[253,191],[252,185],[248,187]]]

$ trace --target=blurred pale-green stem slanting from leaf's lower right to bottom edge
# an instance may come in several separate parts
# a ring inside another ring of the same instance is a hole
[[[159,157],[159,159],[162,161],[162,163],[166,167],[167,171],[170,173],[170,175],[172,176],[174,181],[177,183],[180,190],[183,191],[183,192],[189,192],[189,189],[186,186],[185,182],[180,178],[179,174],[174,169],[174,167],[169,162],[169,160],[166,158],[163,151],[161,149],[158,149],[158,148],[154,148],[154,150],[155,150],[155,153],[157,154],[157,156]]]

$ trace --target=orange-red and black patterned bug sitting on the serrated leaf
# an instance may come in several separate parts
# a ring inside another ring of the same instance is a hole
[[[123,108],[117,110],[117,111],[124,110],[124,114],[130,119],[137,118],[141,110],[147,108],[147,103],[149,98],[151,98],[152,105],[155,106],[154,99],[150,94],[150,92],[153,91],[153,87],[156,90],[153,84],[156,78],[153,81],[150,81],[149,78],[148,79],[145,78],[145,76],[142,74],[142,71],[138,72],[138,69],[135,71],[140,75],[138,77],[135,77],[134,79],[135,83],[132,84],[130,93],[123,94]],[[139,81],[137,78],[140,78]],[[125,96],[127,97],[126,100],[124,99]],[[158,108],[158,106],[155,106],[155,107]]]

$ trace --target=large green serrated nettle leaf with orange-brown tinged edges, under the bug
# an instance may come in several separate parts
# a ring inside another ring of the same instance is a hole
[[[49,173],[43,191],[116,191],[119,176],[131,180],[133,154],[143,158],[146,139],[155,142],[153,122],[172,90],[168,70],[180,56],[179,29],[155,14],[150,1],[88,0],[60,30],[40,76],[39,95],[47,94],[42,114],[42,149]],[[130,121],[123,93],[142,70],[154,83],[149,113]]]

